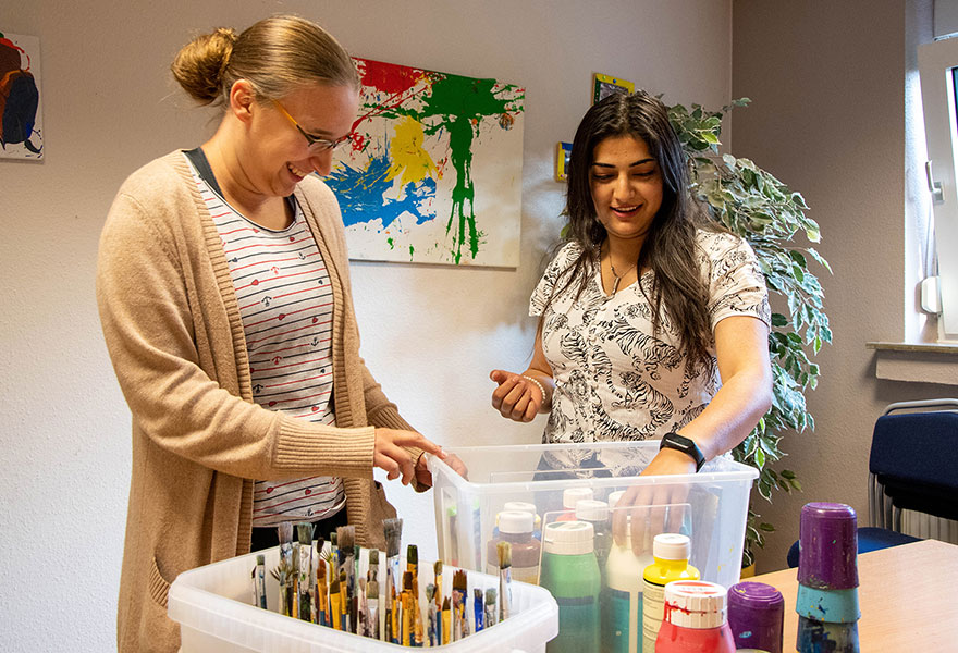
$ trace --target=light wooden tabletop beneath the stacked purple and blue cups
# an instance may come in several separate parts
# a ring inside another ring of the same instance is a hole
[[[798,570],[754,580],[785,597],[783,651],[795,651]],[[923,540],[858,557],[858,636],[863,653],[958,651],[958,546]]]

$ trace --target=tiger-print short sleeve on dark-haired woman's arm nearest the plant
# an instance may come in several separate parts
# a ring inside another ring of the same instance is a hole
[[[700,238],[709,258],[709,316],[712,329],[732,316],[750,316],[772,324],[769,291],[751,246],[734,234]]]

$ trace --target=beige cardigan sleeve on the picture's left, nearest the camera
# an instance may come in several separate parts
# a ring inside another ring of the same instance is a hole
[[[121,189],[97,262],[103,336],[135,428],[157,446],[243,478],[371,478],[371,427],[339,429],[271,411],[208,373],[223,359],[214,347],[232,343],[211,343],[204,320],[216,316],[191,310],[202,294],[186,268],[198,262],[157,213]]]

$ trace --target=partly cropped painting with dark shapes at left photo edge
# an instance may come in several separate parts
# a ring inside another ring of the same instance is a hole
[[[0,32],[0,158],[42,159],[40,39]]]

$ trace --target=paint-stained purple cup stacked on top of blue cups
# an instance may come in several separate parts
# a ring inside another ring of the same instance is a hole
[[[799,583],[819,590],[858,587],[858,519],[851,506],[802,506],[798,546]]]

